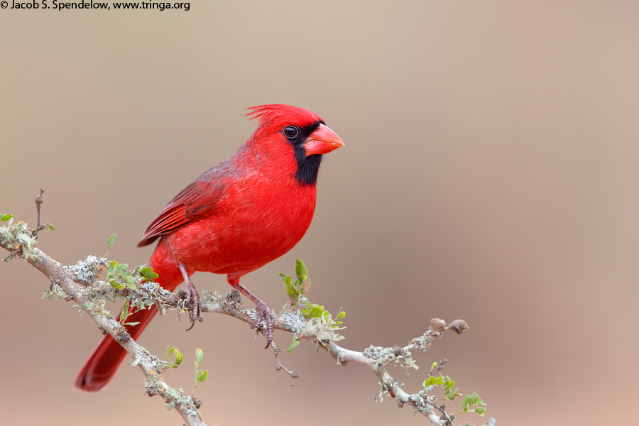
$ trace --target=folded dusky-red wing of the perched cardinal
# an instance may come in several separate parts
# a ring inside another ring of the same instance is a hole
[[[229,163],[222,162],[202,173],[200,178],[175,195],[148,225],[138,247],[151,244],[159,236],[213,214],[234,175]]]

